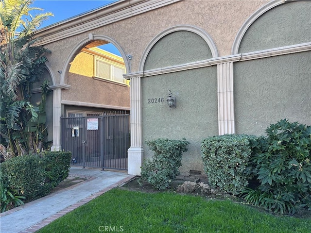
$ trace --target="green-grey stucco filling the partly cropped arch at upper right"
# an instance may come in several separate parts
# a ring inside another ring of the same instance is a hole
[[[246,31],[239,52],[311,41],[311,1],[288,2],[260,16]]]

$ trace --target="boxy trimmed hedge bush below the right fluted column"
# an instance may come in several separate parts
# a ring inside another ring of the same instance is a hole
[[[251,156],[250,138],[225,134],[202,141],[202,159],[208,181],[225,193],[236,194],[248,184],[244,170]]]

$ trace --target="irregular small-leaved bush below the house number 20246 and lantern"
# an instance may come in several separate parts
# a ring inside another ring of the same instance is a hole
[[[141,184],[142,181],[146,181],[157,189],[166,189],[179,175],[178,168],[181,166],[182,153],[188,150],[187,146],[190,142],[185,138],[182,141],[159,138],[146,143],[155,153],[152,161],[145,161],[141,167],[141,177],[138,182]]]

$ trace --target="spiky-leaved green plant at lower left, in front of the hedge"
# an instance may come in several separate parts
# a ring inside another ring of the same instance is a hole
[[[17,207],[23,205],[24,202],[21,199],[25,197],[18,196],[17,190],[9,190],[8,187],[5,187],[3,181],[0,183],[0,206],[1,213],[10,209],[11,207]]]

